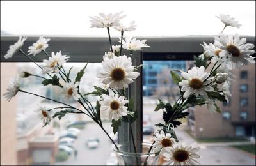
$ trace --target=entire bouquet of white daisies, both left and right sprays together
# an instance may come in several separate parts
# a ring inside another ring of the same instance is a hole
[[[61,51],[52,52],[51,55],[46,51],[50,39],[40,37],[36,43],[33,43],[28,48],[29,50],[26,53],[22,50],[22,45],[26,41],[26,38],[20,37],[17,43],[10,46],[4,57],[11,58],[19,51],[42,69],[42,75],[35,75],[27,71],[20,73],[19,77],[16,77],[10,82],[7,93],[4,96],[10,101],[18,92],[22,92],[61,103],[63,107],[51,109],[40,107],[44,126],[50,124],[52,118],[55,117],[61,119],[66,114],[84,114],[93,119],[102,128],[116,149],[118,149],[118,146],[116,146],[113,139],[111,139],[104,129],[102,118],[108,117],[112,123],[111,126],[113,127],[114,133],[118,131],[118,126],[121,125],[122,121],[127,122],[131,128],[129,131],[131,132],[134,152],[137,152],[131,127],[131,124],[136,121],[137,116],[127,89],[134,82],[134,79],[140,75],[137,70],[141,65],[132,66],[132,52],[149,46],[145,43],[146,40],[136,40],[132,36],[125,36],[125,40],[123,39],[125,31],[136,29],[133,21],[129,26],[124,26],[121,23],[124,17],[125,15],[122,15],[122,12],[110,13],[108,15],[100,13],[100,16],[90,17],[92,19],[90,21],[92,24],[91,27],[106,28],[108,31],[110,49],[102,57],[103,61],[101,64],[103,70],[97,73],[97,77],[100,78],[100,82],[104,84],[104,87],[94,86],[95,91],[81,94],[79,91],[79,82],[86,71],[87,64],[77,73],[76,78],[72,79],[70,78],[72,68],[69,70],[63,68],[63,64],[70,57],[61,54]],[[227,26],[241,26],[229,15],[220,15],[218,17],[225,24],[224,29]],[[112,28],[120,31],[120,45],[112,45],[110,36],[110,30]],[[255,63],[253,60],[254,57],[251,56],[255,53],[252,50],[254,45],[246,43],[245,38],[240,39],[238,34],[225,36],[223,31],[221,31],[220,36],[215,38],[214,44],[209,43],[208,45],[204,43],[202,45],[205,52],[198,57],[195,56],[195,67],[189,69],[188,72],[178,71],[181,72],[180,75],[176,71],[171,71],[173,82],[179,86],[180,97],[173,105],[159,99],[155,111],[164,110],[163,119],[165,123],[156,124],[160,129],[154,132],[154,142],[150,148],[150,151],[163,156],[164,165],[195,165],[198,163],[196,159],[199,158],[197,152],[200,148],[195,144],[180,144],[177,139],[174,128],[181,124],[179,119],[188,116],[189,112],[187,109],[196,105],[206,105],[209,111],[220,112],[220,108],[216,102],[228,102],[228,98],[231,96],[229,87],[231,82],[236,79],[232,75],[232,69],[236,67],[240,68],[242,65],[248,63]],[[128,56],[123,54],[124,51],[122,49],[127,50]],[[30,56],[36,56],[40,52],[43,52],[47,58],[43,61],[43,66],[36,63],[33,57]],[[20,77],[40,77],[43,86],[49,84],[57,86],[62,91],[61,94],[65,100],[74,100],[83,109],[20,89]],[[86,98],[88,95],[99,96],[95,107]],[[54,111],[57,109],[58,111]],[[146,163],[147,160],[145,161]]]

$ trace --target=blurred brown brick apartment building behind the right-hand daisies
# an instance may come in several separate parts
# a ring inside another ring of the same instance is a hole
[[[232,97],[218,103],[221,114],[211,114],[205,106],[191,108],[188,126],[195,137],[255,137],[255,64],[233,70]]]

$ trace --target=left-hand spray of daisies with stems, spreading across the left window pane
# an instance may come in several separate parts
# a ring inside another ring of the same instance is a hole
[[[118,149],[116,143],[104,129],[102,118],[108,117],[109,121],[112,122],[111,126],[113,127],[114,133],[118,131],[118,126],[120,126],[121,121],[128,122],[131,127],[131,124],[136,120],[136,112],[133,110],[132,100],[128,98],[127,88],[129,88],[129,84],[134,82],[134,79],[140,75],[139,72],[136,72],[140,66],[132,66],[131,56],[133,51],[141,50],[143,47],[149,47],[145,43],[146,40],[136,40],[136,38],[132,38],[132,36],[126,36],[125,40],[123,40],[125,31],[133,31],[136,29],[134,21],[130,22],[128,26],[124,26],[122,22],[120,22],[124,17],[125,15],[122,15],[122,12],[115,14],[109,13],[108,15],[100,13],[100,17],[90,17],[92,19],[90,20],[92,24],[91,27],[106,28],[108,30],[110,49],[105,52],[102,57],[103,71],[97,73],[97,77],[100,78],[100,82],[104,84],[104,87],[94,86],[95,91],[82,94],[80,92],[79,82],[86,71],[87,64],[77,73],[76,78],[72,79],[70,78],[72,68],[67,70],[63,67],[63,64],[66,63],[70,57],[61,54],[61,51],[56,53],[51,52],[50,55],[46,50],[49,46],[49,38],[40,37],[36,43],[33,43],[33,45],[28,48],[28,52],[25,52],[22,46],[27,38],[20,37],[14,45],[10,46],[10,49],[4,57],[8,59],[16,52],[20,52],[42,70],[42,75],[36,75],[28,71],[21,72],[20,75],[11,80],[7,93],[4,93],[4,96],[10,101],[18,92],[22,92],[62,104],[63,107],[54,107],[51,109],[46,109],[45,107],[39,108],[44,126],[50,124],[52,118],[55,117],[61,119],[66,114],[84,114],[95,121],[95,123],[99,124],[100,128],[102,128],[113,142],[116,149]],[[112,45],[110,28],[120,31],[120,45]],[[129,56],[122,54],[123,48],[128,50],[127,53]],[[42,66],[33,60],[33,56],[41,52],[47,58],[43,60]],[[20,89],[20,77],[40,77],[42,79],[42,86],[48,86],[50,84],[52,86],[58,86],[61,91],[61,98],[63,98],[64,101],[73,100],[73,102],[79,103],[83,109],[74,107],[67,102],[57,101]],[[99,96],[96,107],[93,107],[92,103],[88,101],[86,98],[88,95]],[[130,131],[135,147],[133,133],[132,130]]]

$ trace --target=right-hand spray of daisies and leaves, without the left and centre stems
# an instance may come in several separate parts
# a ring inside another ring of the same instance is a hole
[[[179,140],[174,128],[179,126],[180,118],[188,116],[189,107],[206,105],[210,112],[221,112],[216,104],[217,101],[227,103],[230,94],[230,84],[236,79],[232,74],[234,68],[240,68],[248,63],[255,63],[251,55],[254,45],[246,43],[246,38],[225,36],[224,29],[227,26],[240,27],[234,18],[229,15],[217,16],[225,27],[218,37],[214,38],[214,44],[205,43],[202,45],[204,54],[194,56],[193,68],[188,72],[178,71],[180,75],[171,71],[172,80],[180,89],[179,99],[171,105],[159,99],[155,111],[163,109],[163,123],[156,126],[161,128],[154,132],[154,143],[152,150],[159,152],[164,157],[164,165],[196,165],[199,147],[196,144],[187,145],[177,143]]]

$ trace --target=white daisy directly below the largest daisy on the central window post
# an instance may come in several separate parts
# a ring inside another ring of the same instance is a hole
[[[108,117],[109,121],[114,119],[117,121],[122,116],[127,116],[128,100],[125,100],[125,96],[119,96],[118,93],[114,93],[109,89],[109,95],[103,94],[103,100],[100,103],[100,112],[102,116]]]

